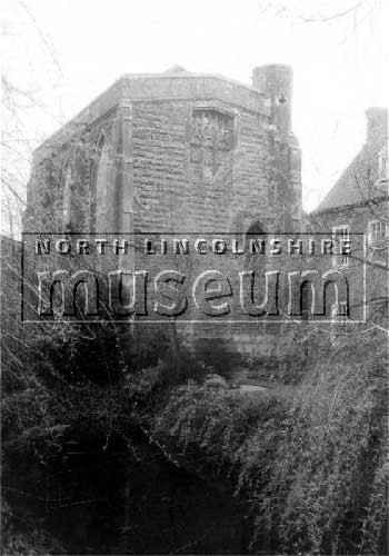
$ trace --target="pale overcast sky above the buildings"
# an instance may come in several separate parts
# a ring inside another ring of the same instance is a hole
[[[365,109],[387,106],[387,3],[359,2],[342,14],[357,2],[9,2],[3,72],[39,103],[23,112],[34,145],[122,73],[179,63],[250,83],[255,66],[289,63],[303,207],[311,210],[362,145]]]

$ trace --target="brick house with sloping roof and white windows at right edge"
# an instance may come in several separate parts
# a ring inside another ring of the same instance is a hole
[[[365,145],[310,215],[310,222],[332,234],[335,241],[352,238],[351,256],[338,254],[333,267],[352,276],[353,284],[357,280],[355,289],[365,280],[369,319],[386,302],[388,290],[388,110],[369,108],[366,116]]]

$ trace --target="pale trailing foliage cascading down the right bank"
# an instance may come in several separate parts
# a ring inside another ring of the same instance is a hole
[[[242,399],[181,387],[154,426],[249,498],[252,550],[386,554],[387,401],[386,345],[369,336],[292,389]]]

